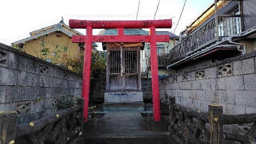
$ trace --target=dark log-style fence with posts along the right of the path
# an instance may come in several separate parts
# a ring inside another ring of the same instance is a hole
[[[250,144],[256,134],[256,113],[225,115],[222,106],[219,105],[209,105],[208,112],[202,112],[201,110],[197,111],[175,104],[175,97],[170,97],[169,114],[170,128],[184,138],[185,144],[191,142],[202,143],[199,139],[201,133],[204,133],[205,140],[209,144],[222,144],[224,140]],[[194,119],[196,119],[195,122]],[[245,135],[223,132],[224,124],[247,124],[252,122],[254,123],[252,128]],[[209,130],[206,128],[206,123],[210,125]]]

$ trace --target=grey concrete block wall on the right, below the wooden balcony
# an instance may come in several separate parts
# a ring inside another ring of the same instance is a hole
[[[184,70],[160,80],[160,96],[204,111],[219,104],[224,114],[255,113],[255,65],[256,52]]]

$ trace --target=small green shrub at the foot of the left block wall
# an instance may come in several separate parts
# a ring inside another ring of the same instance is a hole
[[[69,95],[69,94],[64,94],[60,100],[58,100],[58,110],[63,110],[66,108],[71,108],[76,106],[76,101],[74,96]]]

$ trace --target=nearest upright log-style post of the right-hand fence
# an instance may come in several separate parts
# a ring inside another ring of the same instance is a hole
[[[209,105],[208,118],[210,123],[210,143],[222,144],[223,124],[222,124],[223,108],[219,105]]]

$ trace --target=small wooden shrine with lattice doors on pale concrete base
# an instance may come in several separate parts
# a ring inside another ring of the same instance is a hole
[[[140,82],[142,42],[108,42],[104,110],[144,110]]]

